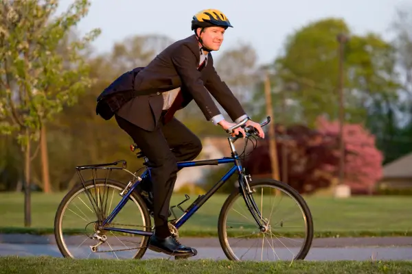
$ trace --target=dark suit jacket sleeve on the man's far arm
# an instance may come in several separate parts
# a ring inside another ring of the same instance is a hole
[[[214,69],[213,59],[211,58],[211,55],[209,55],[208,59],[211,62],[211,69],[213,70],[213,72],[211,72],[211,75],[209,76],[205,84],[207,90],[209,90],[216,101],[218,101],[218,103],[222,105],[222,108],[226,110],[232,121],[235,121],[240,116],[246,115],[246,112],[244,112],[239,100],[235,97],[235,95],[233,95],[233,92],[231,92],[226,83],[222,82],[218,73],[216,72],[216,69]]]

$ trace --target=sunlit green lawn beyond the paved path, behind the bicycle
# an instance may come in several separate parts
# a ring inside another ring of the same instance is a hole
[[[23,227],[23,194],[0,193],[1,233],[48,234],[63,193],[32,194],[32,227]],[[215,195],[179,229],[181,236],[216,236],[218,214],[227,195]],[[183,204],[183,208],[192,203]],[[183,200],[173,195],[172,205]],[[315,236],[412,236],[411,197],[306,197],[314,219]],[[179,211],[179,210],[178,210]]]

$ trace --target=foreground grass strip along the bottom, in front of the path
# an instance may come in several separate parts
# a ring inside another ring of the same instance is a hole
[[[184,270],[183,270],[184,269]],[[0,273],[411,273],[412,262],[230,262],[227,260],[67,260],[0,258]]]

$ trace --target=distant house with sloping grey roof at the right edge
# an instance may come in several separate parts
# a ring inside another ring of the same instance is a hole
[[[385,164],[378,188],[412,188],[412,153]]]

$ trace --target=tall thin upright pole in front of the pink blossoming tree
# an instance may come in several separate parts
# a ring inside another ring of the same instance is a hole
[[[343,104],[343,47],[347,42],[348,37],[345,34],[338,34],[336,39],[339,42],[339,151],[341,158],[339,159],[339,183],[343,184],[345,177],[345,142],[343,142],[343,123],[345,123],[345,106]]]

